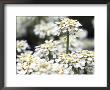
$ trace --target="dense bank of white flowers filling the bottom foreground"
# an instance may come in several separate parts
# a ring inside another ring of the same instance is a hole
[[[35,52],[36,53],[36,52]],[[94,52],[80,50],[71,54],[61,53],[48,59],[25,51],[17,55],[17,74],[91,74],[94,71]],[[44,54],[45,55],[45,54]],[[89,70],[92,68],[92,70]]]

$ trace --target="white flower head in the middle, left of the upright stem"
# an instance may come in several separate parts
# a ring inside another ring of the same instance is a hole
[[[58,54],[57,44],[53,40],[46,40],[44,44],[35,47],[34,56],[39,56],[40,58],[44,57],[48,61],[49,55],[56,58]]]

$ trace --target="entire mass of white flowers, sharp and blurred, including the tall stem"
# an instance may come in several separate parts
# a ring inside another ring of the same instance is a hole
[[[51,17],[49,20],[52,22],[41,20],[35,25],[34,34],[44,39],[44,43],[35,46],[34,50],[30,49],[26,40],[17,40],[17,74],[94,73],[94,51],[82,49],[81,40],[86,37],[87,31],[79,28],[82,25],[77,20],[67,17],[58,19]],[[57,40],[54,36],[57,36]]]

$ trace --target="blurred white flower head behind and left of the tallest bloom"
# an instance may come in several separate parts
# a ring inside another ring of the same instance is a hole
[[[34,28],[35,35],[38,35],[40,38],[45,38],[46,36],[59,36],[60,31],[58,26],[53,22],[45,22],[41,20],[40,24],[37,24]]]

